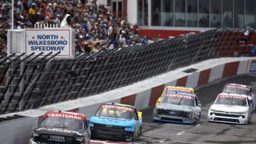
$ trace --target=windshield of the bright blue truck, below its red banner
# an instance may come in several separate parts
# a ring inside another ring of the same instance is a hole
[[[134,109],[126,106],[101,105],[95,116],[134,119]]]

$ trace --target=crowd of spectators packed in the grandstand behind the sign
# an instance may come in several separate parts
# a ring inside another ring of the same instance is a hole
[[[11,0],[0,1],[0,54],[6,52],[6,33],[11,28]],[[54,23],[60,26],[66,11],[73,12],[72,27],[75,29],[75,50],[92,52],[117,49],[129,45],[149,44],[151,40],[140,35],[137,25],[127,19],[115,18],[104,5],[95,0],[15,0],[14,28],[33,28],[35,24]]]

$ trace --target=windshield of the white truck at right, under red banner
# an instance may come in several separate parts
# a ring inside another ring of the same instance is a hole
[[[246,98],[242,96],[218,96],[215,104],[224,104],[232,106],[247,106]]]

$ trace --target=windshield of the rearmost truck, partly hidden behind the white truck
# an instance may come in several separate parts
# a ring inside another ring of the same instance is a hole
[[[237,85],[225,85],[223,93],[245,94],[247,96],[250,96],[250,89],[247,87],[241,87]]]

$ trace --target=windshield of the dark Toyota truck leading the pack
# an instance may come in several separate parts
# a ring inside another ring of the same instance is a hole
[[[83,130],[83,121],[72,118],[46,117],[41,123],[43,128],[65,128],[72,130]]]

